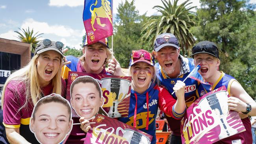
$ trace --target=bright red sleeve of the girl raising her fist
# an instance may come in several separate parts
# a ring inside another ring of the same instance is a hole
[[[176,100],[173,96],[168,92],[165,87],[159,87],[159,94],[158,94],[158,107],[163,113],[165,113],[169,117],[173,117],[173,105],[176,103]]]

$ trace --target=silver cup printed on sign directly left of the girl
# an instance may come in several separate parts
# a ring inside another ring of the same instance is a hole
[[[117,106],[126,97],[131,82],[121,78],[102,78],[101,81],[101,87],[112,93],[113,105],[109,109],[109,117],[121,117],[121,114],[117,110]]]

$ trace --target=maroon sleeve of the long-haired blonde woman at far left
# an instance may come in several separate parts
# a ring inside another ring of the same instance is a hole
[[[3,116],[4,126],[9,128],[19,128],[21,120],[20,109],[20,93],[15,89],[15,85],[11,81],[7,84],[4,92]]]

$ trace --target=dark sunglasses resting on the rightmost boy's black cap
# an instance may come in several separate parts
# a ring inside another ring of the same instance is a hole
[[[219,49],[213,44],[196,45],[192,48],[192,55],[199,53],[208,53],[219,58]]]

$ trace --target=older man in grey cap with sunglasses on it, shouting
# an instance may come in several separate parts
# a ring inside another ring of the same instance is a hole
[[[173,87],[177,81],[183,81],[189,73],[195,68],[193,59],[180,55],[180,46],[178,39],[171,33],[162,33],[158,35],[154,44],[154,57],[158,60],[155,67],[157,76],[161,85],[165,86],[174,99],[177,99]],[[123,76],[120,64],[113,59],[109,63],[109,72]],[[186,84],[185,101],[189,107],[197,98],[207,91],[194,79],[184,81]],[[197,91],[197,92],[196,92]],[[171,144],[181,144],[180,120],[165,115],[172,131]]]

